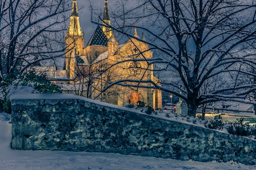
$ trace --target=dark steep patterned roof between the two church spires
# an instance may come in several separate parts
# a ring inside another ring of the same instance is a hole
[[[99,26],[96,28],[90,41],[88,42],[87,46],[89,45],[108,46],[108,38],[106,38],[105,34]]]

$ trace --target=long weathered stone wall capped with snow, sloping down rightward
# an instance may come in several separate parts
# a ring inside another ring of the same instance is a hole
[[[255,140],[72,94],[14,95],[11,103],[13,149],[256,163]]]

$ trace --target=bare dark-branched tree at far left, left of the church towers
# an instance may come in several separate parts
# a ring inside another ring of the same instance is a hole
[[[0,3],[0,80],[65,54],[66,0]]]

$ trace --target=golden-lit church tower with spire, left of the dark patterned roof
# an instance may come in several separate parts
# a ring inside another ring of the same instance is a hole
[[[75,78],[75,56],[83,54],[84,34],[80,27],[77,1],[73,0],[70,24],[66,33],[66,70],[69,79]]]

